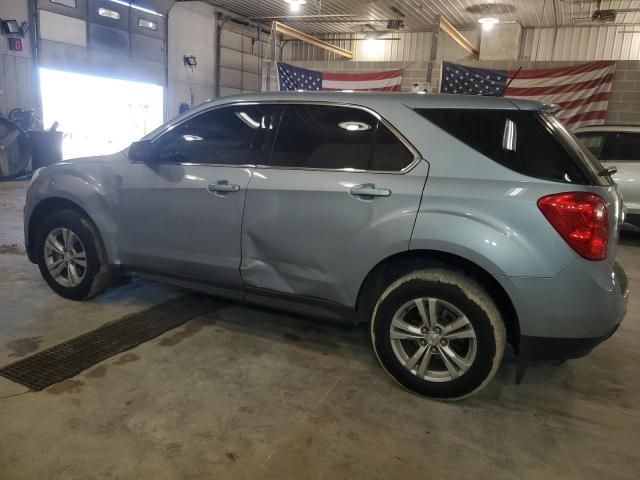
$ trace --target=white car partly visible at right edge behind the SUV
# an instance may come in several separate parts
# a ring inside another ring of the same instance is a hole
[[[640,126],[593,125],[575,134],[604,166],[617,170],[613,179],[627,207],[626,222],[640,227]]]

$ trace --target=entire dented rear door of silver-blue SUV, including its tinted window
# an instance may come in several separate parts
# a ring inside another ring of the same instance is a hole
[[[367,272],[409,247],[427,171],[371,111],[286,105],[247,192],[245,284],[355,305]]]

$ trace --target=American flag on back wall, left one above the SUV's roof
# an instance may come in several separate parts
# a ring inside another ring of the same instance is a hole
[[[399,92],[402,70],[362,73],[328,73],[278,62],[280,91],[354,90]]]

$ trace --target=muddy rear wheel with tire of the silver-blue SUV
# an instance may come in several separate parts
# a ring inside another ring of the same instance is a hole
[[[464,274],[442,269],[395,281],[371,320],[373,349],[387,373],[406,389],[440,400],[484,388],[500,366],[505,339],[492,298]]]

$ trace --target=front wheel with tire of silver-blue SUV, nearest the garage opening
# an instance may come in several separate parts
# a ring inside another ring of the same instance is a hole
[[[47,243],[50,235],[55,242]],[[93,223],[74,210],[47,217],[37,231],[34,249],[42,277],[62,297],[86,300],[110,285],[109,265],[100,236]],[[70,275],[71,268],[75,276]]]

